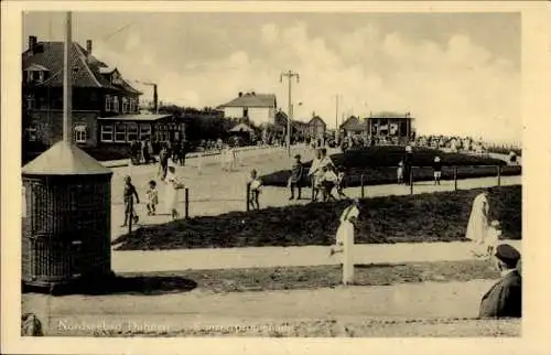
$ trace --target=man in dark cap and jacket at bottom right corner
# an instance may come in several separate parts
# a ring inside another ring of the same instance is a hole
[[[494,257],[501,279],[483,297],[478,318],[521,318],[522,279],[517,270],[520,252],[503,244]]]

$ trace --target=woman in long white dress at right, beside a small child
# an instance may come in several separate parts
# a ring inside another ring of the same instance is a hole
[[[486,250],[482,250],[485,246],[486,236],[488,233],[488,193],[483,192],[475,197],[468,218],[466,238],[473,241],[472,252],[475,256],[482,256]]]

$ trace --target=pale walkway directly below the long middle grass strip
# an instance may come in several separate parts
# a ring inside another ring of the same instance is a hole
[[[522,250],[520,240],[508,244]],[[355,246],[355,262],[404,263],[431,261],[472,260],[471,244],[452,243],[399,243],[360,244]],[[328,255],[327,246],[257,247],[220,249],[179,249],[159,251],[112,251],[111,267],[115,272],[154,272],[177,270],[206,270],[231,268],[296,267],[337,265],[342,255]]]

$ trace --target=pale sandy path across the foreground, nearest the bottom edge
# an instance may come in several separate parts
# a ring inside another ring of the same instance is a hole
[[[50,323],[51,329],[58,331],[64,324],[76,329],[82,324],[120,326],[125,322],[177,330],[302,319],[474,318],[477,315],[480,295],[493,282],[473,280],[218,294],[194,290],[154,297],[48,298],[23,294],[23,312],[35,312],[44,323]]]

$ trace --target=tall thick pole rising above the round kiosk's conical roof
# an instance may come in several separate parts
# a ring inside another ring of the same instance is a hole
[[[65,45],[63,46],[63,140],[66,142],[73,141],[72,135],[72,114],[73,114],[73,84],[71,68],[71,49],[73,46],[72,29],[73,19],[72,12],[65,15]]]

